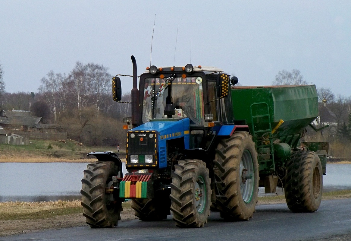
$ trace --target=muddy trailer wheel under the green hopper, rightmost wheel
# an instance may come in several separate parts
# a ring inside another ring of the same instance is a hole
[[[314,212],[322,200],[322,164],[314,151],[294,151],[286,163],[285,200],[296,213]]]

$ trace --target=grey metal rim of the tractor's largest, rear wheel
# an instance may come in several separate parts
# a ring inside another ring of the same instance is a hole
[[[254,169],[252,163],[252,156],[248,150],[243,152],[240,161],[240,191],[244,202],[249,203],[252,199],[254,187]]]

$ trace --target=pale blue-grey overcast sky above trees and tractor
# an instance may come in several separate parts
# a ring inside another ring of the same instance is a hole
[[[351,96],[351,1],[0,0],[0,64],[7,92],[38,92],[77,61],[138,75],[151,64],[214,66],[242,85],[281,70]],[[156,17],[155,17],[156,15]],[[178,37],[177,37],[178,28]],[[124,89],[132,78],[122,78]]]

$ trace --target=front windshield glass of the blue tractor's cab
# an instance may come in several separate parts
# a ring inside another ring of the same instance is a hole
[[[188,117],[191,124],[204,125],[204,101],[201,77],[174,78],[168,85],[165,79],[146,78],[144,84],[143,123],[151,119],[164,119],[168,88],[172,85],[172,102],[176,115],[172,118]],[[161,91],[160,91],[161,90]],[[156,95],[157,97],[153,97]],[[154,104],[152,103],[154,99]],[[154,105],[154,106],[153,106]],[[153,107],[153,108],[152,108]]]

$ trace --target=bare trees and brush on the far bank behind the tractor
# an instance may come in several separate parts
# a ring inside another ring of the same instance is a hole
[[[42,123],[59,124],[68,138],[86,145],[124,145],[126,131],[122,117],[131,116],[131,105],[112,99],[112,76],[103,65],[76,63],[68,74],[50,71],[41,79],[38,92],[8,93],[0,65],[0,106],[4,110],[29,110],[42,117]],[[282,70],[273,85],[307,84],[298,70]],[[335,95],[330,89],[317,89],[320,116],[316,128],[329,124],[323,131],[307,129],[306,139],[327,142],[351,141],[351,97]],[[122,101],[130,102],[131,93]]]

